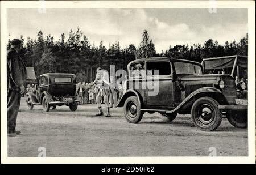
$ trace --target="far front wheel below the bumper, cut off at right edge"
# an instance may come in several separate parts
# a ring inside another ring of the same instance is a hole
[[[231,125],[238,128],[247,128],[248,112],[247,111],[230,111],[226,116]]]

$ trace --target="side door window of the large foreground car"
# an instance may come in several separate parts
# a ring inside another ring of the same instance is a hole
[[[169,61],[149,61],[147,65],[147,76],[152,75],[171,75],[172,66]]]

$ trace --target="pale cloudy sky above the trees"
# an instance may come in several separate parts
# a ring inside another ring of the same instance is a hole
[[[119,41],[122,48],[139,46],[147,29],[157,52],[176,44],[200,43],[208,39],[240,41],[247,33],[247,9],[223,8],[210,13],[208,8],[112,8],[112,9],[9,9],[7,32],[10,39],[23,35],[35,38],[39,29],[51,34],[55,41],[61,33],[66,39],[71,29],[79,26],[90,44]]]

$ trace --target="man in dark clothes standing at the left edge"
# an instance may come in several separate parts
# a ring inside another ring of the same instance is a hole
[[[19,56],[21,41],[11,41],[11,48],[7,51],[7,129],[8,136],[16,136],[16,119],[20,106],[21,95],[25,92],[26,67]]]

